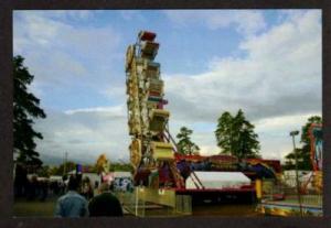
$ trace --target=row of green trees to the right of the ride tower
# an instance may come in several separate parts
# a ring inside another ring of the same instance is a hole
[[[301,146],[296,146],[299,170],[312,170],[310,158],[311,142],[308,132],[312,123],[322,123],[322,118],[312,116],[301,127]],[[243,110],[239,109],[235,116],[232,116],[228,111],[223,112],[217,119],[216,130],[214,131],[217,146],[221,149],[220,154],[234,155],[239,160],[260,158],[260,145],[254,128],[254,124],[245,118]],[[180,129],[180,133],[177,134],[179,153],[186,155],[200,153],[200,148],[191,140],[192,133],[193,130],[186,127]],[[295,158],[296,154],[292,150],[285,156],[282,167],[285,170],[293,170],[296,167]]]

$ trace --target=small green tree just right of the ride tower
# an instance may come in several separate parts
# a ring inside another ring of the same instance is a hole
[[[177,134],[179,142],[177,143],[179,153],[181,154],[196,154],[200,151],[200,148],[191,141],[190,135],[193,133],[192,130],[186,127],[182,127],[180,132]]]

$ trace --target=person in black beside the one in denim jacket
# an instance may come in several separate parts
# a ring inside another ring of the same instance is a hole
[[[117,197],[110,192],[109,184],[102,183],[99,185],[99,195],[89,200],[89,216],[122,216],[121,205]]]

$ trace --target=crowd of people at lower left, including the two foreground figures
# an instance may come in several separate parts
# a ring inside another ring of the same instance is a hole
[[[24,178],[20,176],[25,176]],[[75,174],[68,178],[49,180],[19,175],[14,181],[15,198],[46,200],[57,198],[56,217],[122,216],[121,204],[113,194],[114,183],[95,182]]]

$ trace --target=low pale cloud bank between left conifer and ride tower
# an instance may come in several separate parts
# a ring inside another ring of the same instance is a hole
[[[128,161],[129,137],[127,117],[122,107],[110,107],[47,112],[47,118],[36,122],[36,130],[44,139],[36,150],[41,155],[52,154],[62,158],[68,152],[68,160],[95,163],[105,153],[111,162]]]

